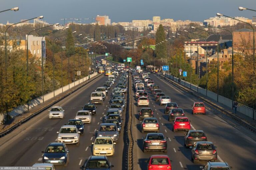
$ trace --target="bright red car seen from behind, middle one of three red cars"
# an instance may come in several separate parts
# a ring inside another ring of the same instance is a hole
[[[172,131],[175,132],[177,130],[190,130],[190,120],[187,117],[176,117],[173,122]]]

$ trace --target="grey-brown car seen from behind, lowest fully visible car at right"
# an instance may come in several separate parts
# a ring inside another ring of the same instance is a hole
[[[215,161],[217,160],[217,151],[212,142],[201,141],[196,142],[194,146],[190,146],[191,160],[196,163],[197,161]]]

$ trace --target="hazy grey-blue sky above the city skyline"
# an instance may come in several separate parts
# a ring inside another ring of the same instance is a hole
[[[19,7],[19,11],[0,13],[0,23],[19,22],[43,15],[48,23],[63,24],[62,18],[95,18],[107,15],[111,22],[161,19],[201,21],[221,13],[252,18],[256,12],[239,11],[238,7],[256,10],[256,0],[0,0],[0,11]],[[75,21],[75,20],[67,20]],[[91,20],[82,20],[89,23]]]

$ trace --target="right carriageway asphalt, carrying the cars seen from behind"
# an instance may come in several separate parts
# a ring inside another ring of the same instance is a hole
[[[218,161],[226,161],[233,170],[250,169],[253,170],[256,167],[256,142],[246,134],[246,129],[243,129],[239,124],[232,122],[223,115],[216,115],[213,112],[207,110],[206,115],[192,115],[191,105],[193,102],[198,101],[191,94],[177,90],[173,86],[169,85],[165,81],[154,74],[149,75],[163,90],[166,96],[170,96],[172,102],[176,102],[179,108],[182,108],[190,120],[191,129],[204,130],[207,135],[208,141],[212,141],[217,146]],[[148,91],[148,88],[147,92]],[[174,170],[198,170],[200,166],[203,166],[206,162],[200,162],[194,164],[191,161],[191,149],[184,147],[184,131],[173,132],[172,123],[168,122],[167,114],[164,114],[164,107],[159,106],[159,102],[155,102],[153,95],[150,94],[150,106],[155,112],[154,117],[160,121],[160,133],[167,136],[169,158],[172,161],[172,169]],[[133,137],[134,143],[134,165],[137,164],[134,169],[146,169],[147,160],[150,155],[164,154],[163,152],[148,151],[143,153],[143,140],[145,133],[141,133],[141,123],[138,120],[138,110],[141,107],[137,107],[135,99],[135,93],[133,93]],[[135,122],[134,122],[135,121]],[[244,131],[245,130],[245,131]],[[255,137],[255,135],[254,135]]]

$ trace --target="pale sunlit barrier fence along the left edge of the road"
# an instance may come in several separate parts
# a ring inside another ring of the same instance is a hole
[[[91,74],[90,77],[94,77],[96,76],[98,73],[94,73]],[[53,92],[47,93],[43,96],[40,96],[36,99],[33,99],[31,101],[28,102],[28,104],[26,105],[20,105],[16,108],[14,108],[11,112],[8,112],[8,115],[10,115],[10,117],[15,118],[16,116],[19,116],[20,114],[23,114],[24,112],[27,112],[28,110],[40,105],[41,103],[44,103],[50,99],[52,99],[53,97],[57,96],[58,94],[61,94],[69,89],[71,89],[74,86],[79,85],[80,83],[85,82],[86,80],[88,80],[88,76],[81,78],[73,83],[70,83],[64,87],[61,87]],[[0,125],[3,124],[6,120],[6,114],[4,113],[0,113]]]

